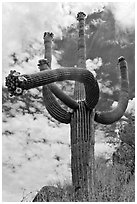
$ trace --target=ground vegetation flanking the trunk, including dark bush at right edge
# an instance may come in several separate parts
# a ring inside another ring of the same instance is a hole
[[[112,157],[96,157],[95,202],[135,201],[135,117],[128,114],[127,118],[125,125],[120,125],[117,138],[119,145],[117,144]],[[116,139],[116,135],[112,134],[110,138]],[[108,142],[110,143],[110,140]],[[27,199],[27,196],[24,196],[22,202]],[[57,187],[43,187],[36,196],[33,195],[29,199],[34,199],[33,202],[74,202],[75,196],[71,185],[62,186],[58,183]]]

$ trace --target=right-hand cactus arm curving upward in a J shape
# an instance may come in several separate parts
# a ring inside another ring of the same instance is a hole
[[[95,121],[101,124],[111,124],[118,121],[124,114],[128,105],[128,66],[124,57],[118,59],[121,71],[121,90],[117,107],[111,111],[96,112]]]

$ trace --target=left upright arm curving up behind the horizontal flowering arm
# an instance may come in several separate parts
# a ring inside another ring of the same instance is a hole
[[[45,32],[44,33],[44,46],[45,46],[45,53],[44,58],[39,60],[38,68],[40,71],[51,69],[51,60],[52,60],[52,40],[53,40],[53,33]],[[62,123],[69,123],[70,122],[70,113],[65,111],[59,103],[56,101],[55,97],[53,96],[51,90],[49,89],[49,85],[45,85],[42,88],[44,105],[49,112],[49,114],[56,120]]]

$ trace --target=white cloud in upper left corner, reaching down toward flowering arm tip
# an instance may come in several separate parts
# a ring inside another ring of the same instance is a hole
[[[9,55],[18,53],[18,58],[21,59],[25,55],[28,45],[33,46],[37,41],[43,44],[45,31],[53,32],[55,37],[61,37],[62,28],[76,22],[76,18],[63,9],[62,3],[57,2],[5,2],[2,7],[2,19],[3,78],[9,73],[11,61]],[[28,53],[26,54],[28,55]],[[27,66],[25,64],[14,68],[19,69],[21,73],[23,70],[25,72],[35,71],[38,62],[36,56],[38,55],[39,50],[35,53],[33,61],[31,59],[31,62],[26,63]],[[30,57],[30,53],[27,57]]]

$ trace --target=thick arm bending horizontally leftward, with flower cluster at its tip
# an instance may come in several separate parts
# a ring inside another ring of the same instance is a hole
[[[99,98],[99,87],[93,74],[86,69],[79,68],[62,68],[55,70],[46,70],[39,73],[15,76],[16,71],[11,71],[6,77],[6,86],[8,91],[13,95],[21,95],[23,90],[36,88],[56,81],[75,80],[84,83],[85,93],[88,98],[91,98],[90,108],[94,108]],[[20,80],[22,77],[23,80]],[[20,89],[18,91],[18,89]],[[86,100],[88,104],[88,100]]]

